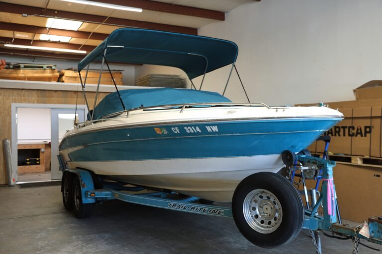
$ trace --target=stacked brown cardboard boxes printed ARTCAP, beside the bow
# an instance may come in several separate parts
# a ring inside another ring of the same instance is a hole
[[[373,80],[354,89],[357,100],[329,102],[345,119],[326,132],[332,137],[329,150],[334,154],[382,157],[382,81]],[[303,105],[300,105],[303,106]],[[322,141],[314,142],[310,151],[321,153]]]

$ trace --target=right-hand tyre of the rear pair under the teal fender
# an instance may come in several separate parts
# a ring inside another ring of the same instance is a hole
[[[81,191],[80,179],[77,176],[73,180],[72,187],[73,187],[72,206],[73,206],[74,214],[79,219],[89,218],[93,213],[94,203],[84,204],[82,202],[82,191]]]

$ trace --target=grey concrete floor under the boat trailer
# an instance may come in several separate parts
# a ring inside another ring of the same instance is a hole
[[[324,254],[352,253],[351,240],[322,237]],[[377,245],[371,245],[378,247]],[[261,249],[232,219],[107,201],[89,219],[63,208],[59,186],[0,187],[1,254],[314,254],[303,230],[289,245]],[[362,254],[377,252],[360,246]]]

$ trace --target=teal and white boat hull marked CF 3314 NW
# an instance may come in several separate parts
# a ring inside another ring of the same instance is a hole
[[[301,151],[338,121],[262,119],[111,127],[66,137],[60,150],[70,168],[228,202],[244,178],[278,172],[284,166],[283,151]]]

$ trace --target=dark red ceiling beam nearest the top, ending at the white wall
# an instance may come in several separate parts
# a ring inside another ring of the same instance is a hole
[[[117,4],[122,6],[142,8],[145,10],[153,10],[193,17],[202,17],[215,20],[225,20],[225,13],[216,10],[208,10],[185,5],[178,5],[166,2],[157,2],[151,0],[93,0],[97,2]]]

